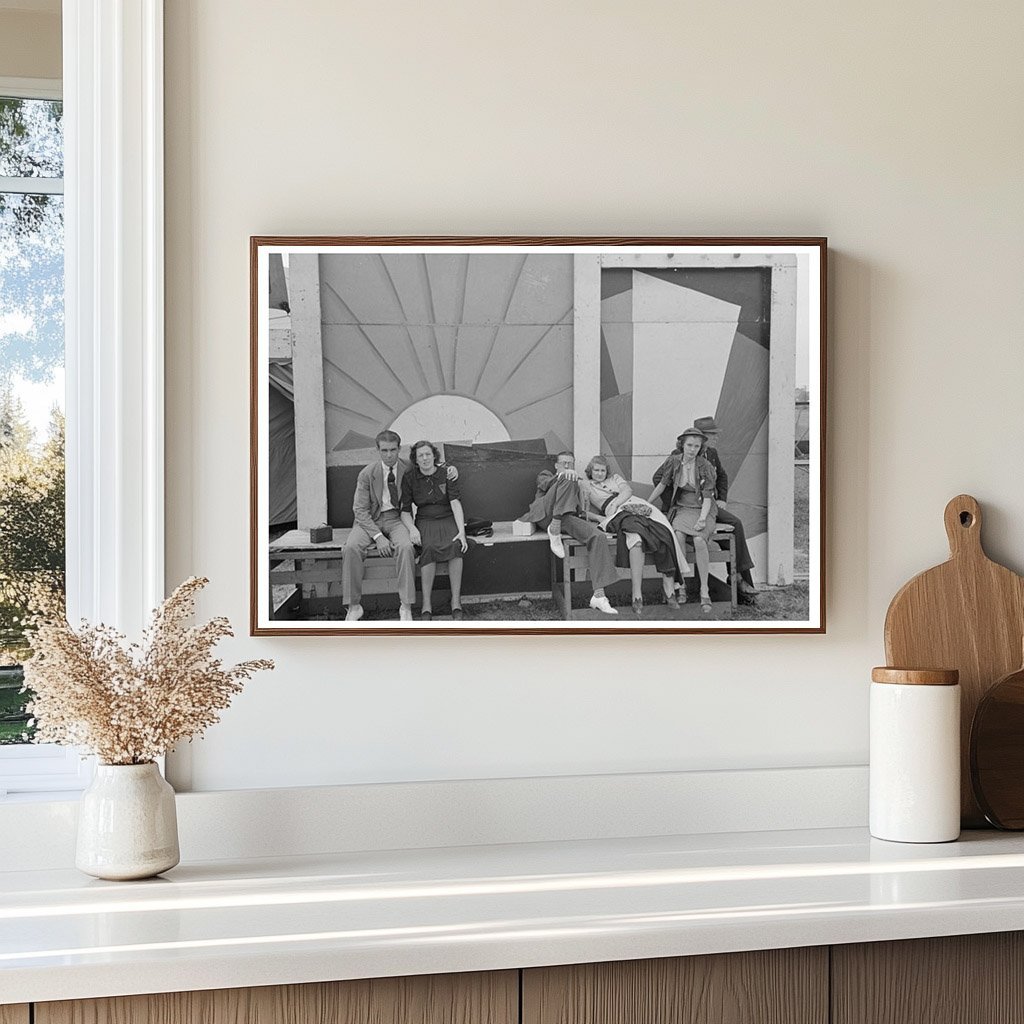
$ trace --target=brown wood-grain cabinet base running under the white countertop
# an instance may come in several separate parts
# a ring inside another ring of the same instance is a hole
[[[521,1013],[521,1016],[520,1016]],[[1009,1024],[1024,933],[0,1007],[0,1024]]]

